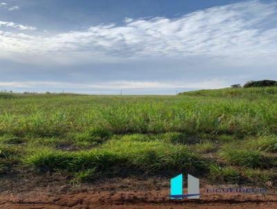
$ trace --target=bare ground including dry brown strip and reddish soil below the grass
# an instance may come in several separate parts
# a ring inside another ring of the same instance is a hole
[[[1,209],[277,208],[274,190],[267,194],[215,194],[204,189],[211,185],[203,185],[199,200],[172,200],[166,179],[116,178],[82,185],[66,185],[60,176],[10,180],[0,181]]]

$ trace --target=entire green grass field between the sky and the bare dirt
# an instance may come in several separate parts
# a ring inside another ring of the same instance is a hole
[[[0,174],[60,172],[72,182],[194,174],[277,183],[277,87],[178,96],[0,94]]]

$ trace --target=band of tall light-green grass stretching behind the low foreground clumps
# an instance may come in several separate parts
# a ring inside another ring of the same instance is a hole
[[[109,98],[39,96],[1,100],[0,133],[57,136],[106,129],[114,134],[276,134],[277,104],[226,98]]]

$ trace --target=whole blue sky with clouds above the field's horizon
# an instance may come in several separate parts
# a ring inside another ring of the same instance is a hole
[[[0,0],[0,90],[176,94],[276,60],[277,0]]]

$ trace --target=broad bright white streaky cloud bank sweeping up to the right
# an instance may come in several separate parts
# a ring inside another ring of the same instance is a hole
[[[2,21],[1,25],[35,30],[12,22]],[[0,39],[0,57],[20,62],[68,64],[188,56],[220,57],[231,62],[267,57],[273,62],[277,59],[277,3],[233,3],[176,19],[126,18],[123,26],[100,25],[47,36],[2,29]]]

